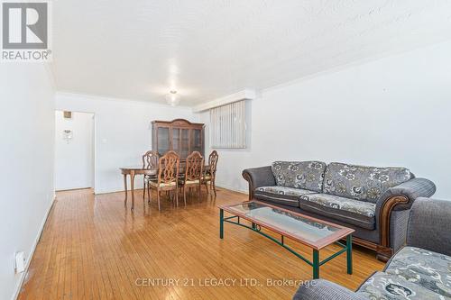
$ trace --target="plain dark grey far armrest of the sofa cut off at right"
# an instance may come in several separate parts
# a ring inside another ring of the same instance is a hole
[[[418,198],[410,210],[407,244],[451,256],[451,201]]]

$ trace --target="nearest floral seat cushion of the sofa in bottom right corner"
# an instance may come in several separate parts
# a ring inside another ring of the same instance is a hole
[[[383,272],[375,272],[359,287],[356,293],[367,299],[377,300],[445,300],[443,296],[423,286]]]

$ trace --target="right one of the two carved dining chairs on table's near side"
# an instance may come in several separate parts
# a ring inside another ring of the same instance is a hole
[[[187,187],[198,186],[198,199],[200,200],[200,185],[204,168],[204,158],[198,151],[194,151],[185,161],[185,175],[179,179],[183,189],[183,201],[187,205]]]

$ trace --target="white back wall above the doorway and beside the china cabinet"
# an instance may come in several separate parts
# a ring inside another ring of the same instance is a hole
[[[97,194],[124,190],[119,168],[141,166],[143,153],[152,148],[152,120],[198,119],[187,107],[63,93],[57,93],[55,99],[58,110],[96,114]],[[135,187],[142,186],[142,177],[136,177]]]

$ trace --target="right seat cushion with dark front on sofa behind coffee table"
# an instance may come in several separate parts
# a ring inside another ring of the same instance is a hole
[[[374,229],[376,205],[373,203],[337,195],[310,194],[300,197],[299,207],[365,229]]]

